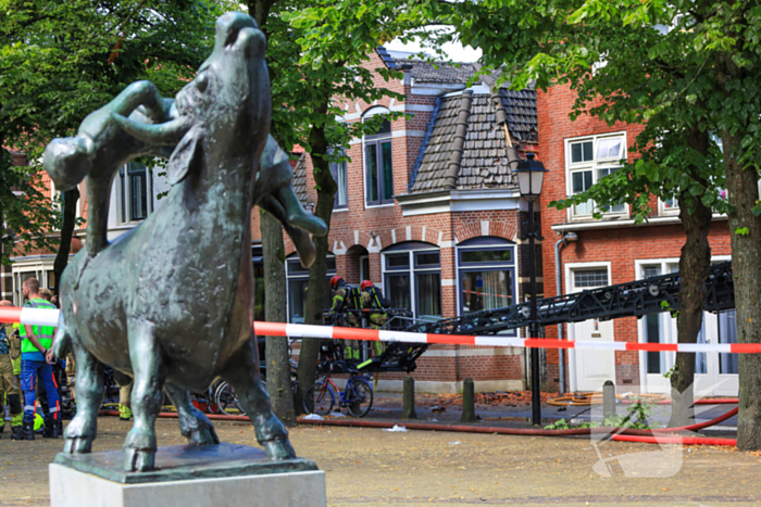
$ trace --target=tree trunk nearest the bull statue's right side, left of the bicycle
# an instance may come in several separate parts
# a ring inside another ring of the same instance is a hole
[[[283,226],[269,213],[261,213],[262,254],[264,257],[264,315],[267,322],[285,322],[286,277]],[[294,392],[290,389],[288,339],[266,337],[266,389],[275,415],[289,427],[297,424]]]

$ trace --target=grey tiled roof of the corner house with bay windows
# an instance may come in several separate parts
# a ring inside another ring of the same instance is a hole
[[[513,141],[537,141],[536,94],[533,91],[500,90]],[[434,126],[422,147],[423,157],[414,172],[411,192],[444,190],[452,160],[457,117],[462,94],[445,97],[433,119]],[[485,93],[474,94],[467,119],[467,135],[460,161],[458,188],[512,186],[504,130],[497,124],[495,106]]]

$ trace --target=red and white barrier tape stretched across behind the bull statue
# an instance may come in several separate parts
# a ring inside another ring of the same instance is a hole
[[[14,308],[0,306],[0,322],[29,326],[58,326],[58,309]],[[303,324],[253,322],[259,335],[288,338],[322,338],[406,343],[438,343],[445,345],[519,346],[536,348],[576,348],[579,351],[645,351],[645,352],[721,352],[724,354],[759,354],[761,343],[636,343],[570,341],[519,337],[474,337],[465,334],[431,334],[375,329],[309,326]]]

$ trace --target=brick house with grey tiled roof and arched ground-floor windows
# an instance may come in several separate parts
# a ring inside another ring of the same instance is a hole
[[[328,276],[338,274],[353,284],[371,280],[392,307],[409,308],[417,319],[519,301],[525,281],[519,276],[525,270],[517,238],[522,204],[496,112],[504,110],[511,141],[535,151],[536,94],[503,89],[492,96],[483,84],[467,88],[473,65],[435,66],[383,48],[366,65],[401,69],[403,79],[378,78],[378,86],[406,99],[344,103],[342,121],[362,122],[388,111],[408,115],[352,140],[344,148],[350,162],[333,167],[338,193]],[[458,136],[464,140],[462,151],[454,147]],[[299,159],[294,187],[308,207],[314,205],[309,156]],[[299,322],[307,271],[287,238],[286,249],[288,316]],[[417,365],[420,391],[454,392],[465,378],[484,391],[525,388],[523,350],[433,346]],[[402,378],[383,375],[380,386],[400,389]]]

